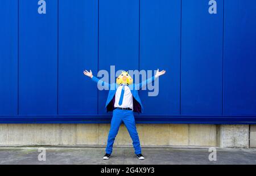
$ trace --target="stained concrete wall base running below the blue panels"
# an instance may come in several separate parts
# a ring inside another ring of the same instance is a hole
[[[106,145],[109,124],[0,124],[0,145]],[[248,148],[249,125],[138,124],[141,145]],[[253,127],[250,136],[256,136]],[[254,138],[255,141],[255,138]],[[256,143],[251,141],[255,146]],[[121,125],[115,145],[131,145]]]

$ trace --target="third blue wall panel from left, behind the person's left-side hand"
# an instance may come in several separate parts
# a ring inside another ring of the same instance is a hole
[[[98,1],[59,2],[59,114],[97,114]]]

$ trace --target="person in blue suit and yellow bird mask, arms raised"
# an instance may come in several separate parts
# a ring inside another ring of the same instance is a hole
[[[133,84],[133,79],[128,72],[122,72],[117,78],[117,83],[109,84],[93,76],[92,71],[84,71],[84,75],[89,76],[98,85],[109,89],[108,99],[106,101],[106,110],[113,111],[113,117],[110,125],[108,144],[106,146],[106,154],[104,160],[108,160],[112,154],[112,148],[117,136],[119,126],[123,122],[133,140],[133,147],[136,156],[139,160],[144,160],[141,153],[141,145],[139,143],[139,136],[135,125],[133,112],[142,113],[143,106],[139,98],[138,90],[149,83],[154,82],[156,78],[165,74],[166,71],[157,70],[155,76],[139,84]]]

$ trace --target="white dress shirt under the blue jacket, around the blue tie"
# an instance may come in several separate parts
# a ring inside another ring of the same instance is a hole
[[[125,86],[125,93],[123,94],[123,102],[122,105],[119,105],[119,100],[122,92],[122,88]],[[119,85],[117,88],[117,92],[115,92],[115,108],[131,108],[133,109],[133,95],[131,94],[131,90],[127,85]]]

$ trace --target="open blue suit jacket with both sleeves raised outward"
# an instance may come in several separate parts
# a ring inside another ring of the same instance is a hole
[[[113,84],[106,83],[105,81],[102,81],[95,76],[93,76],[92,80],[95,81],[97,84],[101,85],[102,87],[105,87],[106,89],[109,90],[109,95],[108,95],[108,99],[106,101],[105,108],[106,108],[106,111],[113,111],[114,104],[115,104],[115,96],[114,95],[115,95],[115,92],[117,92],[117,88],[119,85],[116,83],[113,83]],[[155,76],[143,81],[142,83],[129,85],[131,94],[133,95],[133,111],[135,111],[137,113],[142,113],[143,106],[141,103],[141,99],[139,98],[138,90],[145,87],[148,83],[154,82],[154,80],[155,80]]]

